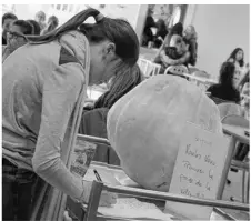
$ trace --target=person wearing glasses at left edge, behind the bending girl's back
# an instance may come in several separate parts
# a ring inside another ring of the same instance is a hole
[[[26,36],[33,33],[33,27],[24,20],[16,20],[10,24],[7,32],[8,44],[2,47],[2,62],[18,48],[27,43]]]

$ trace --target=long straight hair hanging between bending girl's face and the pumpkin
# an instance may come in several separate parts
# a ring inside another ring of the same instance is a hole
[[[94,108],[111,108],[120,98],[143,81],[143,74],[138,64],[118,72],[110,82],[109,91],[94,103]]]

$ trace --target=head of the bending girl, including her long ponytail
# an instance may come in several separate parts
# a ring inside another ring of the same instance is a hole
[[[94,17],[96,23],[83,23],[89,17]],[[84,34],[90,44],[90,84],[108,81],[116,70],[131,68],[139,59],[139,40],[129,22],[103,17],[91,8],[79,12],[58,29],[29,39],[34,43],[46,43],[72,30]]]

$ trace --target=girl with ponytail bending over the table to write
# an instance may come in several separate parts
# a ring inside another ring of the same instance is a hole
[[[69,170],[87,86],[134,67],[139,40],[128,21],[91,8],[27,39],[2,66],[2,219],[61,220],[63,193],[87,203],[91,190]]]

